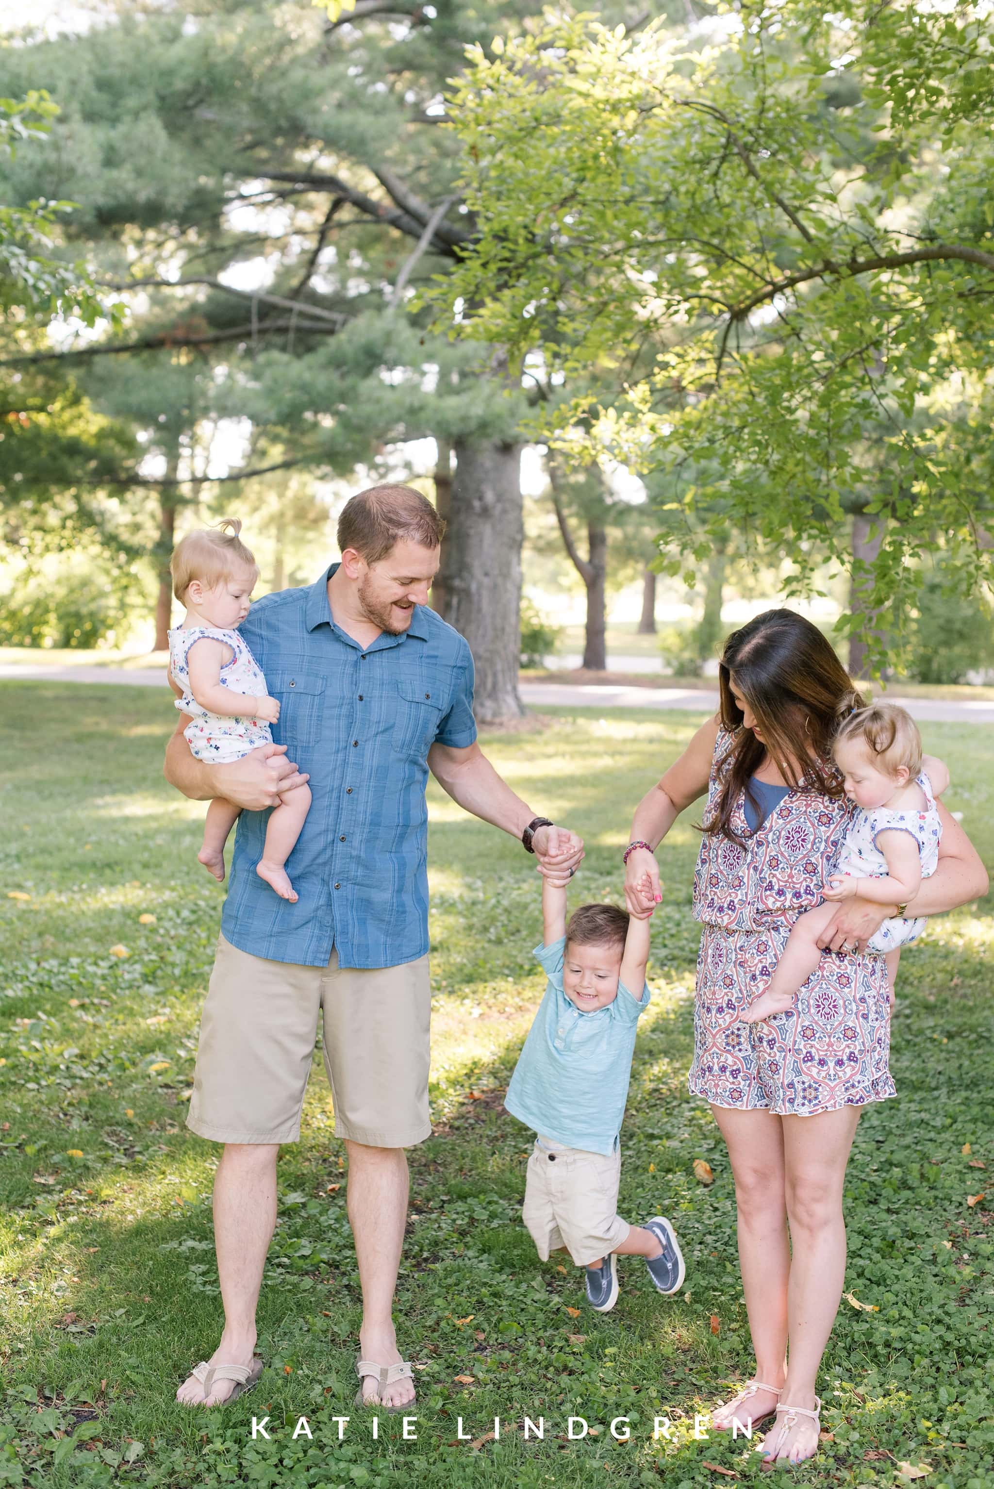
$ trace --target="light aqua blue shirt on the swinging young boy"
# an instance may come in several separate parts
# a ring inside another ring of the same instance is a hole
[[[610,1155],[625,1117],[635,1027],[649,1007],[649,983],[641,998],[619,983],[613,1002],[585,1014],[562,990],[564,954],[565,937],[534,948],[549,981],[504,1106],[533,1132],[568,1148]]]

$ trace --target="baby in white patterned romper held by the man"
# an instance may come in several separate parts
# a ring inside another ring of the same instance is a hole
[[[266,692],[262,669],[238,634],[248,615],[259,566],[241,542],[241,523],[187,533],[176,545],[170,569],[173,591],[186,605],[183,624],[170,631],[170,676],[182,691],[177,709],[190,715],[183,737],[196,759],[226,765],[257,744],[271,744],[271,724],[280,704]],[[266,826],[256,868],[283,899],[296,901],[284,864],[301,835],[311,806],[307,785],[280,792]],[[207,809],[204,846],[196,855],[214,876],[225,877],[225,843],[241,807],[217,798]]]

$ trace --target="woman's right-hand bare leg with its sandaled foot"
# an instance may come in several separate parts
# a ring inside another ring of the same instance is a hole
[[[815,1117],[781,1120],[793,1260],[787,1291],[790,1354],[780,1404],[812,1410],[818,1365],[842,1297],[842,1185],[860,1108],[842,1106]],[[777,1447],[780,1459],[796,1464],[817,1452],[818,1432],[811,1418],[798,1418],[787,1434],[781,1434],[780,1426],[766,1435],[763,1446],[768,1452],[781,1435],[784,1441]]]

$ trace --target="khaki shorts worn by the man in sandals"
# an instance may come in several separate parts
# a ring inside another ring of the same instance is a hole
[[[296,1142],[321,1010],[335,1135],[409,1148],[429,1117],[429,957],[372,971],[269,962],[217,940],[186,1118],[214,1142]]]

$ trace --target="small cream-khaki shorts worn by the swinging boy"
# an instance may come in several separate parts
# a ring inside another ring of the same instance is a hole
[[[577,1267],[607,1257],[628,1236],[618,1214],[621,1145],[610,1157],[536,1138],[521,1218],[539,1255],[565,1246]]]

